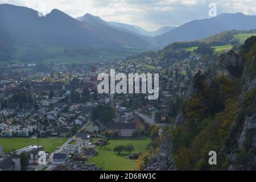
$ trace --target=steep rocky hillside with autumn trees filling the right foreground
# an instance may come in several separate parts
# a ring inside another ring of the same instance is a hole
[[[255,113],[253,36],[237,53],[230,51],[220,57],[216,75],[199,71],[193,77],[179,113],[162,138],[161,155],[144,155],[138,168],[162,165],[162,169],[171,170],[255,170]],[[217,165],[209,165],[209,151],[217,152]]]

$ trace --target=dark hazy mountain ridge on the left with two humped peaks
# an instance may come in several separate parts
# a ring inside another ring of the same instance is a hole
[[[145,40],[112,27],[80,22],[54,9],[46,16],[27,7],[0,5],[1,36],[15,43],[64,47],[145,47]]]

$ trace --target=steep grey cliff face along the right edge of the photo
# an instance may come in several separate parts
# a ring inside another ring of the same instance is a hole
[[[256,37],[241,48],[245,60],[242,73],[240,110],[233,121],[221,154],[231,160],[229,170],[256,169]]]

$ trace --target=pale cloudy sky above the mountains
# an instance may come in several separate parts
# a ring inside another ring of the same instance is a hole
[[[0,0],[1,3],[30,7],[43,14],[59,9],[73,18],[89,13],[108,21],[135,24],[147,31],[210,18],[210,3],[216,4],[217,15],[256,14],[256,0]]]

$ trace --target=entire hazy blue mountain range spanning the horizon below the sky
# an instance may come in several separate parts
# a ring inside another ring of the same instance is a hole
[[[75,19],[54,9],[40,17],[38,11],[27,7],[2,4],[0,24],[0,39],[13,43],[72,48],[162,48],[173,42],[204,39],[223,31],[256,29],[256,16],[221,14],[148,32],[130,24],[106,22],[90,14]]]

